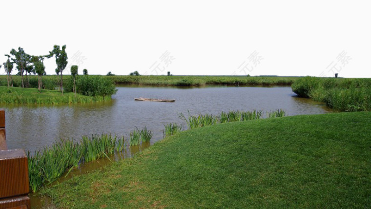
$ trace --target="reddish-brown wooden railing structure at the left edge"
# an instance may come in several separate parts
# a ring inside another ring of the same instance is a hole
[[[0,109],[0,209],[30,209],[27,156],[7,149],[5,111]]]

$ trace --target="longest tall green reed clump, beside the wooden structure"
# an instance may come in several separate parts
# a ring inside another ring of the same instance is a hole
[[[42,185],[50,184],[66,171],[78,167],[82,163],[108,157],[114,151],[123,151],[124,137],[110,134],[83,136],[79,143],[75,140],[65,140],[30,152],[28,156],[28,176],[30,190],[36,192]],[[68,173],[67,173],[68,174]]]

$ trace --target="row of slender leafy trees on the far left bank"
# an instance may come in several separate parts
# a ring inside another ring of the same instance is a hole
[[[39,82],[39,90],[42,88],[42,75],[46,75],[45,73],[45,66],[44,66],[44,59],[47,58],[52,58],[55,57],[56,59],[56,64],[57,68],[55,72],[57,75],[61,74],[61,82],[60,82],[60,89],[63,94],[63,70],[67,66],[67,53],[65,51],[66,45],[62,46],[62,49],[59,45],[54,45],[53,50],[49,51],[49,54],[46,55],[41,55],[41,56],[33,56],[29,55],[24,52],[23,48],[19,47],[18,51],[15,49],[12,49],[9,54],[5,54],[7,57],[7,60],[5,63],[2,63],[4,66],[6,75],[7,75],[7,81],[8,81],[8,86],[13,87],[13,80],[12,80],[12,71],[14,68],[14,65],[16,65],[16,68],[18,70],[18,75],[22,77],[22,88],[28,87],[29,85],[29,80],[27,75],[37,74],[39,76],[38,82]],[[0,65],[1,67],[1,65]],[[72,65],[71,66],[71,75],[73,76],[74,80],[77,75],[77,70],[78,66],[77,65]],[[24,81],[23,75],[26,75],[26,81]],[[83,70],[83,74],[87,75],[87,70]],[[74,91],[76,93],[76,87],[74,88]]]

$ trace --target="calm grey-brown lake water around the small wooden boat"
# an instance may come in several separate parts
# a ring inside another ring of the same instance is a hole
[[[174,103],[134,101],[134,97],[175,99]],[[228,110],[284,109],[289,115],[331,112],[323,103],[295,97],[291,87],[139,87],[119,86],[112,101],[73,105],[2,105],[9,149],[33,152],[59,139],[112,133],[128,139],[136,127],[163,139],[164,124],[186,123],[179,113],[218,114]]]

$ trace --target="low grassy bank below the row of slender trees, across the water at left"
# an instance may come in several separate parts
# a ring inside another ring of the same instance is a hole
[[[0,104],[75,104],[109,101],[110,96],[84,96],[57,90],[0,86]]]

